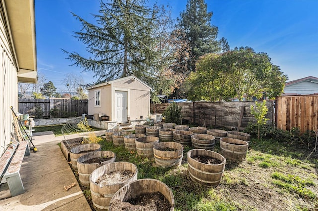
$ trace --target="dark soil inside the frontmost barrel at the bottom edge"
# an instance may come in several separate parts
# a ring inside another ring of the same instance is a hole
[[[155,192],[142,194],[128,202],[114,200],[111,208],[116,211],[170,211],[171,204],[160,192]]]

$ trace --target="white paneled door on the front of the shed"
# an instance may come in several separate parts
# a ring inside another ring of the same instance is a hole
[[[116,96],[116,121],[127,122],[127,92],[115,91]]]

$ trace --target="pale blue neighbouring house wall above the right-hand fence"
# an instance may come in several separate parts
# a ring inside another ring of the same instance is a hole
[[[318,83],[311,83],[309,81],[302,81],[299,83],[285,86],[285,94],[298,94],[298,95],[309,95],[318,93]]]

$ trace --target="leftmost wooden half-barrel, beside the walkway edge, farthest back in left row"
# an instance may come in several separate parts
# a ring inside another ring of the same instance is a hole
[[[101,145],[100,144],[81,144],[79,146],[73,147],[70,150],[70,159],[71,159],[71,165],[73,170],[78,170],[77,167],[77,159],[87,153],[90,153],[92,151],[100,151]]]

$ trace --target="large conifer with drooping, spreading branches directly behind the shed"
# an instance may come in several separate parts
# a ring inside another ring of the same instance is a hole
[[[143,75],[156,57],[153,23],[156,11],[145,7],[144,0],[111,0],[100,2],[96,25],[72,13],[82,30],[75,37],[87,46],[89,57],[68,52],[73,65],[92,71],[98,82],[129,75]]]

